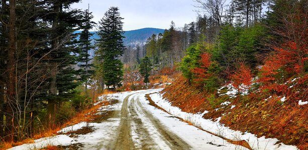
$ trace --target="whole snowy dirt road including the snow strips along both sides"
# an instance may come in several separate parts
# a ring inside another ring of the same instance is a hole
[[[239,131],[224,127],[218,121],[203,119],[202,113],[183,112],[171,106],[157,93],[161,90],[148,89],[104,95],[99,98],[100,102],[108,100],[110,104],[99,107],[94,114],[97,118],[91,122],[64,127],[59,130],[58,135],[36,139],[33,143],[11,149],[40,149],[51,145],[60,149],[248,149],[230,142],[231,138],[249,141],[252,149],[297,149],[280,143],[274,145],[277,139],[243,135]],[[145,97],[149,93],[154,93],[150,95],[151,103]],[[162,110],[163,108],[167,112]],[[182,120],[194,122],[202,128]],[[203,128],[211,130],[211,133]],[[84,132],[85,129],[87,132]],[[259,148],[260,146],[263,147]]]

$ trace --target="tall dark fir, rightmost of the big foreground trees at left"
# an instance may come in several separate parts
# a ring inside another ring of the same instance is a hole
[[[68,92],[79,85],[76,80],[78,71],[73,68],[77,63],[78,48],[76,48],[78,24],[81,21],[80,10],[70,9],[70,5],[80,0],[52,0],[51,8],[47,9],[47,19],[52,20],[51,45],[49,54],[50,80],[48,90],[48,116],[52,125],[55,117],[55,108],[63,99],[70,95]]]

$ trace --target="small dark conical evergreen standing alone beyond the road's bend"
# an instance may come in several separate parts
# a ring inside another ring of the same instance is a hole
[[[152,64],[148,56],[145,56],[140,63],[139,66],[139,72],[141,75],[144,77],[143,82],[145,82],[148,86],[148,83],[150,82],[149,76],[150,76],[150,71],[152,69]]]

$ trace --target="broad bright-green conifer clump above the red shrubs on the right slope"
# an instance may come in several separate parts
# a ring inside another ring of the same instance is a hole
[[[212,52],[213,60],[222,66],[224,73],[231,72],[240,62],[254,68],[261,63],[256,56],[263,54],[264,36],[265,28],[258,24],[247,28],[225,25]]]

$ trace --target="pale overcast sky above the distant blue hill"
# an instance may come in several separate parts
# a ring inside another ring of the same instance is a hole
[[[173,20],[176,27],[195,20],[192,0],[82,0],[72,4],[72,8],[87,9],[94,15],[93,21],[98,22],[111,6],[120,8],[124,17],[123,29],[133,30],[144,27],[169,28]]]

